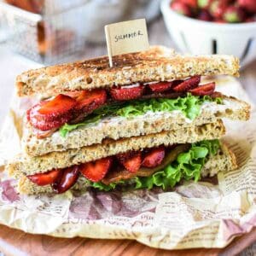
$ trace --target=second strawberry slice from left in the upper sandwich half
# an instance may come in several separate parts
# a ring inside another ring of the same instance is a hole
[[[79,113],[92,113],[96,108],[107,102],[106,90],[79,90],[71,92],[70,96],[76,100],[76,111]]]

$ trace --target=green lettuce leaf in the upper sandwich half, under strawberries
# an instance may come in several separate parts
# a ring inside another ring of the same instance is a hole
[[[138,115],[143,115],[148,111],[152,112],[172,112],[173,110],[181,111],[187,118],[195,119],[204,102],[217,102],[222,103],[221,98],[212,98],[210,96],[192,96],[190,93],[185,97],[178,97],[177,99],[147,99],[147,100],[134,100],[129,102],[114,102],[96,109],[84,122],[75,125],[62,125],[60,128],[61,137],[66,137],[67,133],[73,131],[80,126],[96,124],[103,117],[108,116],[121,116],[125,118],[132,118]]]

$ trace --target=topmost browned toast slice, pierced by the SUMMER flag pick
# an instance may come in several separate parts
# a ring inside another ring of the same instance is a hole
[[[185,79],[194,75],[238,76],[239,61],[230,55],[176,55],[172,49],[154,46],[147,51],[108,56],[43,67],[21,73],[16,79],[19,96],[54,96],[68,90],[91,90],[137,82]]]

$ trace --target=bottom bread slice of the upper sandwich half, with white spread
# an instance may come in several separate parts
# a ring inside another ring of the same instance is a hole
[[[38,139],[32,127],[26,125],[26,131],[22,138],[22,148],[26,154],[37,156],[53,151],[64,151],[70,148],[82,148],[96,143],[102,143],[105,138],[118,140],[123,137],[137,137],[153,134],[160,131],[177,130],[195,125],[213,123],[219,118],[235,120],[247,120],[250,115],[250,105],[237,100],[234,97],[224,96],[224,105],[211,102],[207,108],[203,108],[201,114],[192,121],[186,121],[183,113],[154,113],[134,119],[119,117],[103,119],[100,124],[80,127],[61,137],[59,131],[53,136]]]

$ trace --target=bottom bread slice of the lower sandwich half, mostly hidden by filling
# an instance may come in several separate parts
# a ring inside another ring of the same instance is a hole
[[[228,172],[237,168],[236,156],[224,143],[221,143],[221,149],[218,154],[210,157],[201,170],[201,177],[212,177],[218,172]],[[86,189],[84,177],[79,177],[79,181],[73,186],[73,189]],[[53,193],[50,185],[38,186],[32,183],[25,175],[21,174],[18,182],[18,191],[20,194],[36,195]]]

